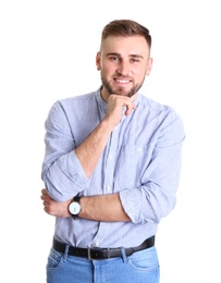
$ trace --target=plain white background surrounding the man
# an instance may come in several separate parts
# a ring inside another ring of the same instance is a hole
[[[219,1],[5,0],[0,3],[1,282],[44,283],[54,219],[42,211],[44,123],[52,103],[96,90],[102,27],[152,35],[143,93],[172,106],[186,140],[177,205],[157,235],[161,283],[221,282]]]

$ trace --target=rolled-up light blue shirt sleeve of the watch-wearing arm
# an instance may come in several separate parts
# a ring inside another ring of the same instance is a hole
[[[173,111],[157,132],[151,160],[140,176],[140,185],[120,192],[122,206],[134,223],[159,223],[176,202],[185,139],[183,123]]]

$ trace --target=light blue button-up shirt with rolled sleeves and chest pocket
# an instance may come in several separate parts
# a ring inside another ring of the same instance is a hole
[[[74,152],[106,115],[100,88],[57,101],[46,121],[42,180],[52,198],[119,193],[131,222],[57,218],[54,236],[78,247],[131,247],[157,233],[176,202],[185,138],[179,114],[142,94],[111,133],[90,179]],[[123,113],[123,112],[122,112]]]

